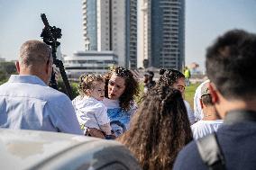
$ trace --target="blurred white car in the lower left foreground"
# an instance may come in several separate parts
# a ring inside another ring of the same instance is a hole
[[[114,140],[38,130],[0,129],[0,169],[141,169]]]

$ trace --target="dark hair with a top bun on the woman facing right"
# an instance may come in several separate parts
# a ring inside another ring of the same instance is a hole
[[[159,85],[170,85],[177,83],[178,79],[185,76],[176,69],[160,69]]]

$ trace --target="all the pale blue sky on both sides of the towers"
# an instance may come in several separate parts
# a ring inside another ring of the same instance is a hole
[[[84,49],[82,0],[0,0],[0,57],[15,59],[25,40],[41,40],[41,13],[62,30],[62,53]],[[256,32],[256,0],[187,0],[186,64],[204,70],[206,47],[233,28]]]

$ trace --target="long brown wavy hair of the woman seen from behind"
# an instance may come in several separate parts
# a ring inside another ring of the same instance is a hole
[[[133,152],[143,169],[171,169],[178,152],[192,139],[180,92],[156,85],[133,115],[130,130],[117,140]]]

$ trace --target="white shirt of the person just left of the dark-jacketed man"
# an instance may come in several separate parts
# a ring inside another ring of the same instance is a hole
[[[218,130],[218,128],[223,124],[223,120],[215,121],[197,121],[191,126],[194,139],[200,139],[208,134],[211,134]]]

